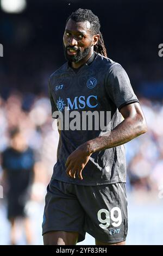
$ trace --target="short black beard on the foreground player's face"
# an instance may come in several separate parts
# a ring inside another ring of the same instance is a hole
[[[90,44],[87,48],[84,49],[84,51],[80,51],[79,49],[76,51],[76,54],[75,55],[69,55],[67,53],[67,50],[68,48],[71,48],[73,49],[74,47],[71,47],[71,46],[67,46],[65,47],[64,46],[64,53],[65,53],[65,58],[68,62],[79,62],[80,60],[82,60],[83,58],[85,58],[87,56],[87,54],[90,53],[91,51],[91,47],[92,47],[92,44]],[[75,49],[75,48],[74,48]]]

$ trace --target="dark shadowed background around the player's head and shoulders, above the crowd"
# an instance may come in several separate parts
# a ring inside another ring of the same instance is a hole
[[[126,69],[135,92],[161,99],[163,2],[150,0],[28,0],[21,14],[0,10],[2,96],[14,88],[47,94],[49,75],[65,62],[65,21],[78,8],[91,9],[99,17],[108,57]]]

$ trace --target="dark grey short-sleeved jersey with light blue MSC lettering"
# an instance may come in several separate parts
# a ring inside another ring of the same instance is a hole
[[[65,63],[49,78],[49,96],[53,115],[55,111],[60,111],[64,120],[59,159],[54,166],[53,178],[88,186],[126,182],[124,145],[93,153],[83,169],[83,180],[78,177],[69,178],[65,172],[67,157],[79,145],[104,135],[109,129],[114,129],[122,121],[120,108],[132,102],[139,102],[122,66],[101,54],[97,54],[91,64],[83,65],[78,72],[74,72],[68,63]],[[105,126],[97,127],[100,117],[96,116],[90,128],[86,124],[90,116],[84,121],[82,119],[82,114],[87,112],[96,112],[99,115],[103,113]],[[74,120],[75,114],[78,113],[81,122],[79,119]],[[109,121],[106,119],[106,113],[110,113]],[[76,129],[70,129],[67,122],[76,123]]]

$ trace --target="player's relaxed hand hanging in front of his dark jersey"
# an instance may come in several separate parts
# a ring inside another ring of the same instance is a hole
[[[92,153],[89,152],[87,144],[84,143],[73,153],[68,156],[66,161],[66,174],[71,178],[76,178],[76,174],[80,180],[83,180],[82,170],[84,169],[86,163],[89,161]]]

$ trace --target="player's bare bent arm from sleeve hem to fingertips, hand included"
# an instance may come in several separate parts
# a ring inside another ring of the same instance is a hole
[[[146,119],[139,103],[136,102],[123,106],[120,112],[124,118],[122,123],[118,124],[111,132],[106,133],[104,136],[99,136],[80,145],[67,158],[65,164],[67,168],[66,173],[71,178],[76,178],[76,173],[78,173],[79,179],[83,179],[82,170],[92,153],[117,147],[147,132]]]

